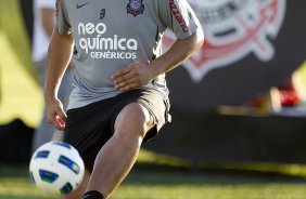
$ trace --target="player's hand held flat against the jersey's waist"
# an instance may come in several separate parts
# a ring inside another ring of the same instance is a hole
[[[115,88],[120,91],[129,91],[148,84],[156,77],[155,69],[150,63],[131,63],[127,67],[113,74]]]

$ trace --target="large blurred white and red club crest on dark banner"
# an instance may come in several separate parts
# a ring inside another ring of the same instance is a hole
[[[188,0],[205,32],[205,43],[184,63],[194,82],[214,68],[233,64],[250,54],[268,62],[285,15],[285,0]],[[164,37],[167,48],[174,38]]]

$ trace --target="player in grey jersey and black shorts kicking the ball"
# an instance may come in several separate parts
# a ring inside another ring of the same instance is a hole
[[[162,53],[166,28],[177,39]],[[64,142],[79,150],[87,168],[66,199],[110,197],[141,144],[170,119],[165,74],[203,40],[186,0],[58,0],[44,85],[48,120],[64,130]],[[65,114],[56,92],[72,54],[76,69]]]

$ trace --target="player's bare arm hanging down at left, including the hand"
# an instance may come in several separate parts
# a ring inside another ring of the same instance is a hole
[[[72,34],[60,35],[55,26],[49,44],[43,95],[48,122],[59,130],[65,128],[66,115],[63,111],[62,103],[58,98],[58,91],[72,57],[73,44]]]

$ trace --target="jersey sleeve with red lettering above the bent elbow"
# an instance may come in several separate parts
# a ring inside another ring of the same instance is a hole
[[[187,0],[158,0],[158,15],[178,39],[186,39],[202,28]]]

